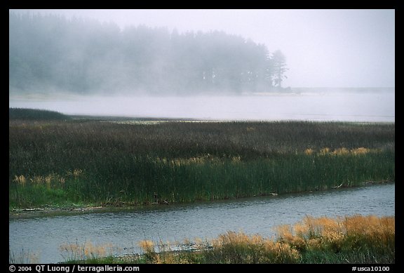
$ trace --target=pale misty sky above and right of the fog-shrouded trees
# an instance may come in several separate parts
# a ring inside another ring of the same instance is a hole
[[[394,10],[20,10],[208,32],[283,51],[291,87],[395,86]]]

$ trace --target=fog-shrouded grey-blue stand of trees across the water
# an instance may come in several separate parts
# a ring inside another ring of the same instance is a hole
[[[224,32],[9,13],[11,92],[262,92],[285,71],[281,51]]]

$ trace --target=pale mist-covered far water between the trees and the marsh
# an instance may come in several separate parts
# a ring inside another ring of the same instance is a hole
[[[212,96],[10,98],[10,107],[63,114],[207,120],[395,121],[395,93],[303,92]]]

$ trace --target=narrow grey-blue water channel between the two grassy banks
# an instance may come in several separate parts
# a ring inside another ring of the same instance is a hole
[[[277,225],[306,215],[395,215],[395,185],[332,189],[324,192],[83,213],[9,221],[9,246],[36,255],[35,262],[61,262],[62,244],[112,244],[116,254],[140,252],[137,243],[212,239],[228,230],[274,235]]]

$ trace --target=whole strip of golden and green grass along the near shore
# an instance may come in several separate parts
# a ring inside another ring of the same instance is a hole
[[[227,232],[212,241],[141,241],[142,255],[81,262],[133,263],[394,263],[395,217],[304,218],[278,227],[272,239]],[[74,262],[70,260],[69,262]]]

